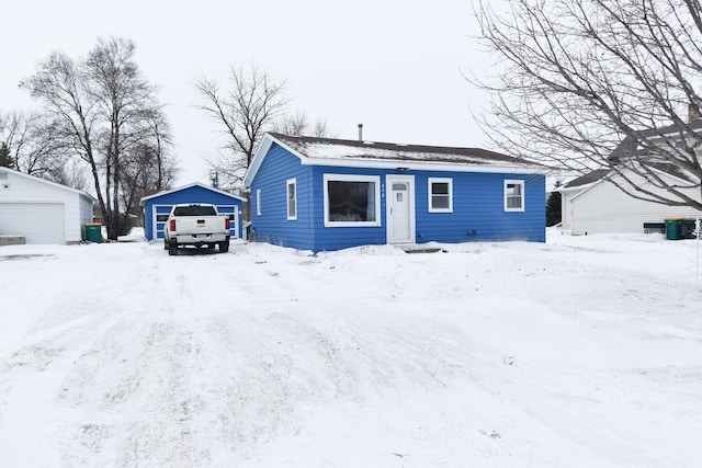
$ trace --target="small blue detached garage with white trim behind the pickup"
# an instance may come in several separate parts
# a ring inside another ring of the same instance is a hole
[[[231,239],[241,238],[241,207],[244,198],[201,183],[193,183],[154,195],[139,203],[144,208],[144,235],[147,240],[163,239],[163,226],[173,205],[179,203],[210,203],[219,214],[229,217]]]

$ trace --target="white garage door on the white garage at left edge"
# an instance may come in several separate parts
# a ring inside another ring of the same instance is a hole
[[[66,243],[63,203],[0,203],[0,235],[20,235],[26,243]]]

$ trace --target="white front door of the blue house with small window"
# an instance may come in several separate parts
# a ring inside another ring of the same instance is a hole
[[[387,175],[387,242],[415,242],[415,176]]]

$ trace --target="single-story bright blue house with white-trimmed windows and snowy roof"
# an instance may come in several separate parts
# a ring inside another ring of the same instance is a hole
[[[280,246],[543,242],[545,170],[476,148],[271,133],[245,184],[252,232]]]

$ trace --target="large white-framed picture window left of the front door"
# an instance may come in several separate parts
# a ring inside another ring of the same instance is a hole
[[[374,175],[325,174],[325,226],[380,226],[381,180]]]

